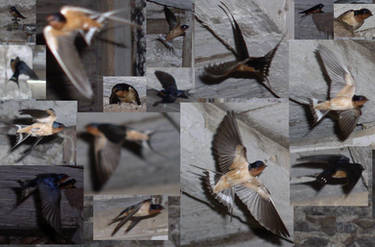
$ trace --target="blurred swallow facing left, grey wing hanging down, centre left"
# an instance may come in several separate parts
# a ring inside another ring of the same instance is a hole
[[[150,143],[153,133],[150,131],[140,132],[124,125],[108,123],[91,123],[86,126],[86,130],[95,137],[95,174],[99,189],[117,168],[121,146],[125,141],[142,142],[145,147],[154,151]]]

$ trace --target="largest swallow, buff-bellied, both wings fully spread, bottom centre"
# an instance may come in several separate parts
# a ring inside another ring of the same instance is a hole
[[[248,162],[234,112],[227,112],[212,145],[219,171],[198,167],[205,170],[203,179],[208,192],[231,213],[236,194],[261,226],[278,236],[289,237],[269,190],[257,179],[267,165],[260,160]]]

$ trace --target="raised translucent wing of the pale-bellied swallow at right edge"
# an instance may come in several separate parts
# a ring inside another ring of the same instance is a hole
[[[355,85],[348,67],[327,47],[319,45],[317,51],[331,79],[330,98],[336,96],[353,97]]]

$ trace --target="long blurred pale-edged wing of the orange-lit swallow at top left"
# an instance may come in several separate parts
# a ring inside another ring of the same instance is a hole
[[[45,27],[43,33],[50,51],[75,88],[85,97],[91,98],[93,90],[74,44],[76,33],[56,33],[51,26]]]

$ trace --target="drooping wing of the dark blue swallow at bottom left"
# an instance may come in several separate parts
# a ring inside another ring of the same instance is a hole
[[[58,188],[51,188],[45,183],[38,185],[41,201],[42,217],[57,233],[61,232],[60,201],[61,193]]]

